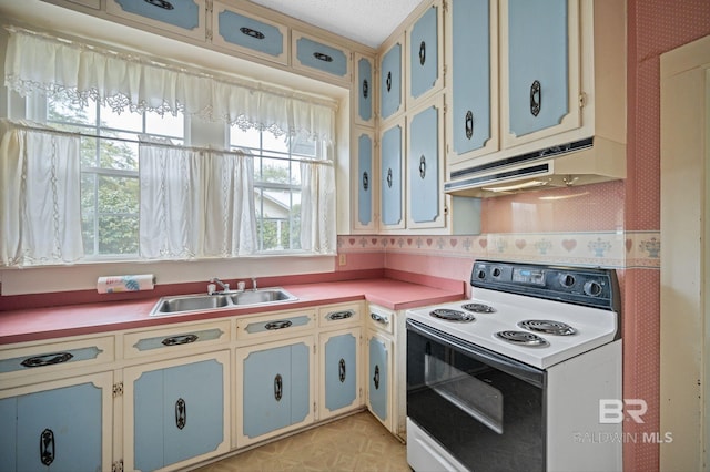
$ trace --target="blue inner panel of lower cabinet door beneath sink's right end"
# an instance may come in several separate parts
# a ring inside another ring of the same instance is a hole
[[[244,434],[255,438],[303,421],[308,414],[308,348],[305,343],[251,352],[244,359]]]

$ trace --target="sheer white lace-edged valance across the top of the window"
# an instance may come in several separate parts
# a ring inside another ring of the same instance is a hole
[[[336,103],[257,82],[216,78],[134,53],[89,47],[9,28],[6,85],[22,96],[42,91],[78,103],[93,99],[121,112],[183,112],[275,135],[332,142]]]

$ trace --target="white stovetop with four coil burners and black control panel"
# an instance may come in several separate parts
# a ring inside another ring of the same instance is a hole
[[[407,317],[539,369],[619,337],[612,270],[479,260],[471,286],[470,299]]]

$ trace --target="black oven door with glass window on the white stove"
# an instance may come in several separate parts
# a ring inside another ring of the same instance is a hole
[[[468,469],[545,470],[545,380],[407,319],[407,417]]]

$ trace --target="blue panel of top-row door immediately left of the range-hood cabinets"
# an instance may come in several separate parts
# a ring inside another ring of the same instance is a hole
[[[409,94],[417,99],[434,89],[439,79],[438,8],[429,8],[409,34]]]

